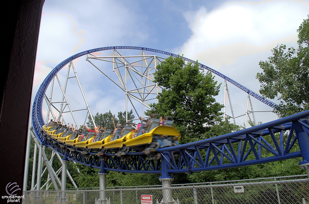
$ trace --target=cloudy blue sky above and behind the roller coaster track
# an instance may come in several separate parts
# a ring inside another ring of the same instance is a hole
[[[78,52],[105,46],[141,46],[184,54],[259,93],[260,84],[255,78],[261,72],[259,61],[267,60],[277,44],[297,46],[296,30],[307,18],[308,9],[309,2],[301,0],[45,0],[32,95],[58,63]],[[74,64],[93,114],[125,110],[124,94],[87,66],[85,58]],[[61,84],[65,74],[65,69],[59,73]],[[219,77],[216,80],[224,83]],[[232,84],[228,87],[235,115],[244,114],[247,95]],[[60,89],[55,86],[53,101],[61,101],[57,91]],[[68,83],[68,98],[74,100],[70,104],[76,109],[84,106],[78,91],[76,82]],[[216,98],[223,103],[223,90]],[[254,110],[272,110],[254,98],[252,104]],[[43,109],[45,119],[46,107]],[[83,123],[85,112],[76,117],[79,124]],[[256,113],[257,121],[268,122],[275,117]],[[242,117],[236,122],[242,125],[244,120]]]

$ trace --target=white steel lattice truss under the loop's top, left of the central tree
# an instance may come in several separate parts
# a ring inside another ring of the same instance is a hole
[[[158,91],[162,87],[153,82],[153,74],[156,66],[164,61],[165,58],[156,55],[146,55],[144,51],[142,51],[141,55],[122,56],[117,50],[113,50],[112,56],[88,54],[86,60],[125,92],[126,113],[128,112],[129,102],[137,115],[137,118],[128,120],[128,115],[126,114],[127,122],[134,122],[140,116],[145,118],[145,108],[150,109],[148,102],[158,102]],[[119,82],[105,74],[102,68],[96,65],[96,60],[112,63],[112,71],[116,74]],[[138,104],[142,105],[142,111],[139,111]]]

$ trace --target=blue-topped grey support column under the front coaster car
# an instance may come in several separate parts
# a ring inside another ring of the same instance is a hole
[[[161,153],[164,155],[165,158],[171,160],[171,155],[169,152],[163,152]],[[174,180],[174,177],[168,173],[168,170],[171,169],[171,165],[167,161],[165,161],[163,158],[161,160],[161,169],[162,169],[162,175],[159,177],[159,181],[162,182],[162,187],[171,187],[172,181]],[[172,190],[171,189],[163,189],[162,190],[162,201],[161,204],[167,203],[167,204],[176,204],[175,200],[172,196]]]

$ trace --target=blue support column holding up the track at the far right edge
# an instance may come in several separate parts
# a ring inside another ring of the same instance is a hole
[[[303,127],[301,122],[309,126],[308,119],[300,119],[293,122],[300,153],[303,157],[303,161],[300,161],[298,164],[301,169],[305,169],[307,171],[309,178],[309,130],[307,130],[306,127]]]

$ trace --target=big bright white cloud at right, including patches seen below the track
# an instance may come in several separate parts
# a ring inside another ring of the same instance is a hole
[[[259,61],[267,60],[277,44],[297,46],[297,29],[307,18],[306,1],[261,1],[228,3],[211,12],[202,6],[184,17],[192,36],[176,53],[218,70],[247,88],[259,93],[255,78],[261,72]],[[224,83],[222,78],[216,77]],[[223,84],[217,101],[223,104]],[[247,94],[228,84],[235,116],[245,113]],[[276,102],[276,100],[273,100]],[[272,110],[252,97],[254,110]],[[226,111],[231,115],[230,107]],[[244,117],[237,118],[242,124]],[[256,120],[274,120],[271,114],[256,113]]]

